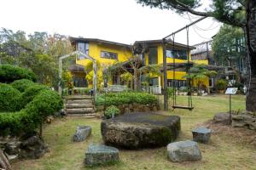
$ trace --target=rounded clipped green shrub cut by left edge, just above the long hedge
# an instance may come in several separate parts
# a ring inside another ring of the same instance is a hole
[[[0,83],[0,111],[18,111],[20,96],[19,90],[9,84]]]

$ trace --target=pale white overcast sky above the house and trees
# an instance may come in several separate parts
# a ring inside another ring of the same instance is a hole
[[[200,18],[143,7],[136,0],[0,0],[0,6],[0,27],[13,31],[47,31],[127,44],[161,39]],[[219,26],[207,18],[190,27],[189,44],[210,40]],[[178,33],[175,42],[186,43],[186,32]]]

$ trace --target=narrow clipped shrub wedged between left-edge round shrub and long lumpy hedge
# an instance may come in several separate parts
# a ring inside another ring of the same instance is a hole
[[[21,95],[21,105],[25,106],[29,102],[32,101],[32,99],[39,94],[39,92],[43,89],[49,89],[47,86],[35,84],[29,88],[26,88],[25,92]]]

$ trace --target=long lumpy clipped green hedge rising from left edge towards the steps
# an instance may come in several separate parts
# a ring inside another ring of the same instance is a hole
[[[0,113],[0,134],[20,136],[32,133],[37,129],[45,117],[60,111],[63,107],[61,96],[55,91],[44,89],[18,112]]]

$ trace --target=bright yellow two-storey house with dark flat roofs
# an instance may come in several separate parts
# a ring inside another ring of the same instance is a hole
[[[101,39],[95,38],[79,38],[79,37],[70,37],[73,45],[77,50],[84,52],[84,54],[89,54],[94,59],[98,60],[103,67],[108,67],[108,65],[113,65],[117,61],[124,62],[131,58],[131,45],[119,43],[119,42],[110,42]],[[163,53],[164,49],[162,46],[162,40],[148,40],[148,41],[137,41],[134,43],[136,46],[143,47],[143,63],[144,65],[162,65],[163,64]],[[189,46],[189,60],[191,61],[190,50],[195,49],[195,47]],[[174,43],[174,48],[172,42],[166,43],[166,60],[167,66],[171,67],[167,71],[167,85],[172,86],[173,82],[177,83],[177,87],[183,87],[187,85],[186,72],[183,70],[176,70],[173,74],[173,62],[176,64],[185,64],[187,63],[187,50],[188,46],[181,43]],[[175,57],[175,59],[174,59]],[[70,69],[73,74],[73,82],[76,87],[87,87],[88,84],[84,79],[85,75],[83,68],[85,65],[90,62],[89,59],[81,58],[80,56],[76,59],[76,65],[73,66],[73,69]],[[196,64],[205,64],[208,65],[207,59],[196,60]],[[74,69],[75,68],[75,69]],[[175,77],[175,81],[173,80]],[[113,77],[113,82],[110,84],[120,84],[119,77]],[[152,77],[151,84],[152,86],[158,86],[159,90],[163,87],[163,76]],[[208,87],[208,80],[202,80],[204,84]],[[196,83],[196,82],[195,82]],[[82,86],[81,86],[82,85]]]

